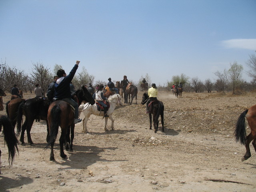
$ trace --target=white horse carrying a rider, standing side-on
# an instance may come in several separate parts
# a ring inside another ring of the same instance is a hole
[[[116,108],[116,104],[119,103],[120,105],[122,105],[122,101],[120,100],[120,98],[121,96],[119,94],[114,94],[108,98],[110,108],[107,111],[108,117],[105,117],[105,126],[104,126],[105,131],[108,131],[107,129],[108,118],[110,118],[112,122],[111,123],[112,130],[114,130],[114,120],[112,118],[112,114]],[[83,131],[82,131],[84,133],[88,133],[86,124],[91,114],[94,114],[96,116],[104,116],[104,111],[98,111],[96,103],[94,105],[90,105],[90,104],[80,105],[79,112],[84,112]]]

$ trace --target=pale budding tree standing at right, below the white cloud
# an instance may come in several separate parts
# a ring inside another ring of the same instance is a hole
[[[237,62],[234,62],[233,64],[230,63],[228,77],[230,79],[230,83],[232,84],[233,94],[235,94],[235,88],[237,89],[239,84],[242,82],[243,69],[243,66],[239,65]]]

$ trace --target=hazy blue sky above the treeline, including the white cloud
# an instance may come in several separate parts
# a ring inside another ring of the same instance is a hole
[[[0,0],[0,58],[29,73],[32,62],[95,80],[166,84],[180,75],[216,79],[256,54],[256,0]]]

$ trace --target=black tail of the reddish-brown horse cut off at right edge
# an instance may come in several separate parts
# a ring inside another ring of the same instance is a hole
[[[246,109],[244,112],[242,112],[236,122],[236,129],[234,131],[236,142],[239,142],[241,144],[245,144],[246,140],[246,124],[245,124],[245,116],[248,112],[248,109]]]

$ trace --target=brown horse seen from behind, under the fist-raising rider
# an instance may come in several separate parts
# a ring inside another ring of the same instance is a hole
[[[83,91],[83,100],[89,102],[89,104],[94,105],[95,101],[92,98],[90,92],[82,86]],[[80,103],[81,104],[81,103]],[[85,104],[88,105],[88,104]],[[50,161],[54,160],[54,142],[57,138],[58,128],[61,128],[61,135],[60,135],[60,156],[62,158],[66,158],[66,154],[64,154],[63,144],[66,143],[66,150],[73,151],[73,140],[74,140],[74,112],[72,107],[69,103],[57,100],[50,104],[48,109],[48,126],[49,126],[49,136],[47,137],[47,144],[46,148],[51,146],[51,154],[50,154]],[[71,130],[71,140],[69,137],[69,130]]]

